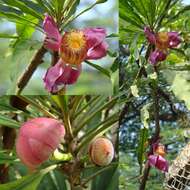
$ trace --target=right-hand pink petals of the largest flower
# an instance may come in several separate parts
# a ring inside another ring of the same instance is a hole
[[[108,44],[105,42],[104,28],[87,28],[84,30],[87,40],[87,59],[100,59],[106,56]]]

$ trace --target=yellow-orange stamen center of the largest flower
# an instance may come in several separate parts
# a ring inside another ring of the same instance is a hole
[[[66,32],[62,38],[60,55],[67,64],[80,64],[87,55],[87,42],[83,31]]]

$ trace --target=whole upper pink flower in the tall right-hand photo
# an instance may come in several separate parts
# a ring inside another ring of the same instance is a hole
[[[155,45],[155,50],[150,53],[149,61],[156,65],[164,61],[168,55],[168,49],[177,47],[181,38],[178,32],[158,32],[154,33],[149,27],[144,28],[145,36],[150,44]]]

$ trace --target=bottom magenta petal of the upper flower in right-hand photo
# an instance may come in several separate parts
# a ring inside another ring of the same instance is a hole
[[[151,52],[149,61],[151,64],[156,65],[159,61],[164,61],[167,57],[167,54],[161,50],[156,49],[155,51]]]

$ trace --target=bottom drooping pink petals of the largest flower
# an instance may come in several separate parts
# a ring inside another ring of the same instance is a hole
[[[74,84],[80,73],[81,65],[72,67],[59,59],[58,63],[50,67],[44,76],[45,88],[51,93],[56,93],[59,91],[58,86]]]

